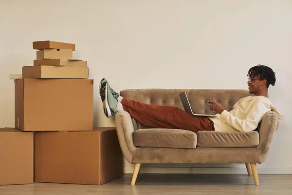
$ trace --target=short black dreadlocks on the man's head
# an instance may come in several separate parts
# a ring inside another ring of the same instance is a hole
[[[275,82],[276,82],[275,72],[272,70],[272,68],[265,66],[265,65],[261,65],[261,64],[258,64],[256,66],[250,68],[247,76],[250,78],[251,77],[254,78],[256,76],[259,76],[259,79],[261,79],[261,80],[266,79],[267,80],[267,84],[266,84],[267,88],[269,88],[269,85],[274,86]]]

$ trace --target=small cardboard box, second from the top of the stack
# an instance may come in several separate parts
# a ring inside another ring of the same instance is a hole
[[[72,59],[72,49],[42,49],[37,51],[37,59]]]

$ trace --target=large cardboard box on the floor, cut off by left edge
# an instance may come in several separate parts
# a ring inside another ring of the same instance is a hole
[[[0,185],[33,182],[34,133],[0,128]]]

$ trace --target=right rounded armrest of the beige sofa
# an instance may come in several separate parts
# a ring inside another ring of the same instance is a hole
[[[270,150],[274,133],[277,127],[277,115],[273,112],[267,112],[262,118],[257,131],[259,133],[259,145],[256,147],[260,163],[263,163]]]

